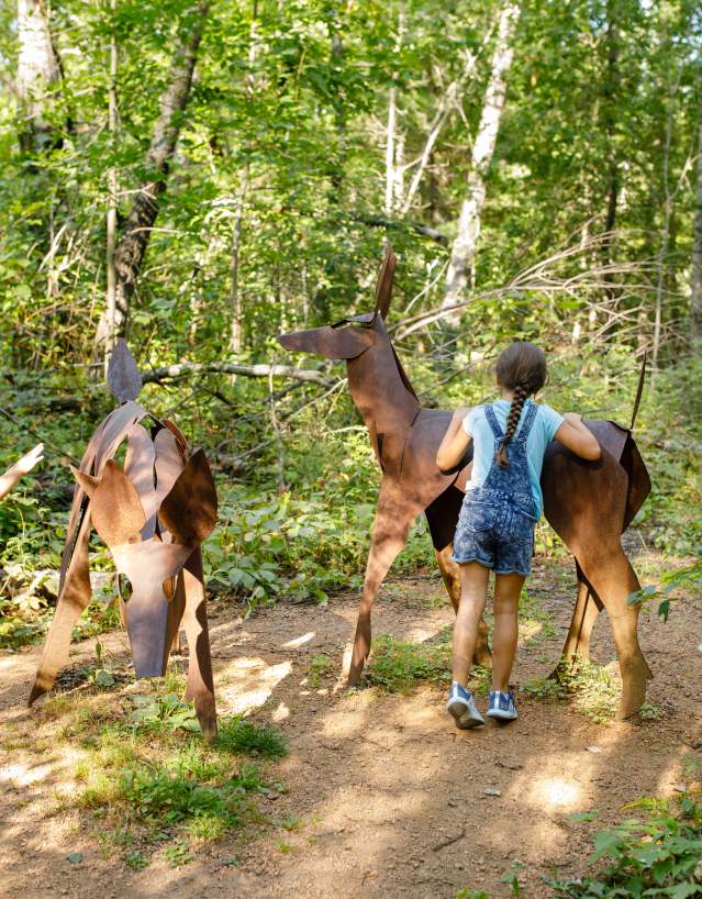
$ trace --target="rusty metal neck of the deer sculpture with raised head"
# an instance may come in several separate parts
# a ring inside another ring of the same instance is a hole
[[[390,434],[406,430],[422,408],[400,366],[382,320],[374,325],[376,340],[349,359],[348,386],[366,426]]]

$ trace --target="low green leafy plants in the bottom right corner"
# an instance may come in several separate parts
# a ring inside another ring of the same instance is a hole
[[[702,896],[702,806],[694,796],[648,803],[645,820],[598,831],[589,876],[554,880],[568,899]],[[610,859],[606,864],[602,859]],[[599,863],[599,864],[598,864]]]

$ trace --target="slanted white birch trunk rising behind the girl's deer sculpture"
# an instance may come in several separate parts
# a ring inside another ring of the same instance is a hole
[[[478,133],[472,147],[470,171],[466,184],[466,196],[460,209],[458,233],[452,247],[450,263],[446,274],[446,291],[442,308],[460,301],[466,288],[473,280],[476,248],[480,235],[480,220],[486,200],[488,170],[492,162],[504,109],[506,79],[512,65],[513,40],[520,20],[520,5],[508,2],[500,13],[498,34],[492,54],[490,78]],[[456,324],[459,314],[445,317]]]

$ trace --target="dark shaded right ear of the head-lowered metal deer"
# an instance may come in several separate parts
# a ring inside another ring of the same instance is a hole
[[[176,543],[199,546],[216,523],[216,490],[203,449],[188,459],[160,504],[158,517]]]

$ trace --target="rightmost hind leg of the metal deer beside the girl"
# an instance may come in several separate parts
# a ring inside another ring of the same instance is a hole
[[[578,558],[584,577],[606,609],[622,673],[622,698],[617,718],[629,718],[646,699],[646,681],[653,675],[638,645],[638,606],[629,606],[628,596],[640,585],[624,551],[598,547]]]

